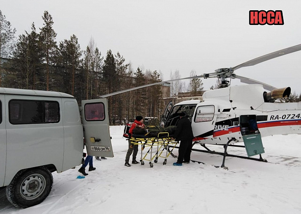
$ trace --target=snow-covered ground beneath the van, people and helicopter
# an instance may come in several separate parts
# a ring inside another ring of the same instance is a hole
[[[166,165],[159,158],[153,168],[125,167],[122,131],[110,127],[115,157],[94,159],[96,170],[84,179],[79,167],[53,173],[52,192],[37,206],[17,209],[0,189],[0,213],[301,213],[301,135],[263,138],[268,163],[228,157],[225,170],[213,166],[222,156],[194,151],[191,159],[206,165],[172,166],[169,156]],[[229,153],[246,155],[244,148]]]

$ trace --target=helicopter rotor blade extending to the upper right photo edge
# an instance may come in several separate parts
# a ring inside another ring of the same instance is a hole
[[[277,57],[281,57],[281,56],[287,55],[288,53],[296,52],[296,51],[299,51],[299,50],[301,50],[301,44],[291,46],[291,47],[288,47],[288,48],[285,48],[285,49],[282,49],[282,50],[278,50],[278,51],[275,51],[275,52],[272,52],[272,53],[268,53],[267,55],[255,58],[253,60],[249,60],[249,61],[247,61],[245,63],[242,63],[240,65],[237,65],[237,66],[235,66],[231,69],[233,71],[235,71],[235,70],[237,70],[239,68],[242,68],[242,67],[257,65],[257,64],[262,63],[264,61],[271,60],[271,59],[274,59],[274,58],[277,58]]]

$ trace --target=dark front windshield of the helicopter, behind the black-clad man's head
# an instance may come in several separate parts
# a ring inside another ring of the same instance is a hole
[[[165,126],[177,125],[180,119],[179,114],[185,112],[186,117],[191,121],[196,105],[175,105],[166,121]]]

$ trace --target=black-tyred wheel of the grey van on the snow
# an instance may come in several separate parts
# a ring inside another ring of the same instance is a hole
[[[44,201],[52,184],[52,173],[45,167],[22,170],[6,187],[6,197],[14,206],[27,208]]]

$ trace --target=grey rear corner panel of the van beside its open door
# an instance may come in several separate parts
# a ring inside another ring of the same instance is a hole
[[[82,163],[84,134],[76,99],[63,98],[62,103],[65,141],[62,171],[65,171]]]

